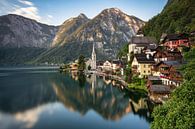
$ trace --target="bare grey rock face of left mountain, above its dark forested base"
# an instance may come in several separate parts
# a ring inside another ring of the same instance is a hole
[[[58,30],[19,15],[0,16],[0,47],[49,48]]]

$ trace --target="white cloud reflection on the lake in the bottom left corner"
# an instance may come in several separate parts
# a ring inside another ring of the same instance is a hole
[[[48,117],[51,117],[61,108],[64,108],[63,105],[56,102],[39,105],[38,107],[13,114],[0,112],[0,127],[2,129],[14,129],[17,126],[25,129],[32,128],[37,124],[42,115],[46,114]]]

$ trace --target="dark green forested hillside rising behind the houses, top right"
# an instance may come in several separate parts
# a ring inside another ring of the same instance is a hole
[[[145,35],[160,39],[162,33],[191,32],[195,30],[195,1],[168,0],[160,14],[143,27]]]

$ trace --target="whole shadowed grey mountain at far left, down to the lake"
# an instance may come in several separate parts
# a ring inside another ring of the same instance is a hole
[[[0,16],[0,65],[24,64],[51,47],[59,27],[19,15]]]

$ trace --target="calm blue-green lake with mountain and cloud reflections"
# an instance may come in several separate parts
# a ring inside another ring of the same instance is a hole
[[[104,77],[0,68],[0,129],[149,129],[146,96]]]

